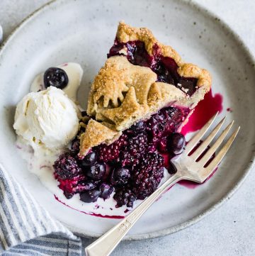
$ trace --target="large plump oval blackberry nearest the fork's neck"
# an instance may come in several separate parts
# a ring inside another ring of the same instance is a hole
[[[148,152],[142,156],[137,170],[132,172],[132,186],[137,199],[145,199],[152,194],[164,175],[164,158],[157,152]]]

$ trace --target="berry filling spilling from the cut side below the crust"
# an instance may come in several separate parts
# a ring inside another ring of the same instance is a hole
[[[185,138],[178,130],[190,113],[189,108],[162,108],[146,121],[124,130],[111,145],[98,145],[83,159],[78,157],[79,135],[72,150],[55,161],[55,178],[67,199],[79,193],[91,203],[112,193],[116,207],[132,207],[137,199],[152,194],[164,176],[176,169],[171,158],[181,154]]]

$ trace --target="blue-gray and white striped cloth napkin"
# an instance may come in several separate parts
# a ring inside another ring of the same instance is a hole
[[[82,255],[81,238],[53,219],[1,166],[0,255]]]

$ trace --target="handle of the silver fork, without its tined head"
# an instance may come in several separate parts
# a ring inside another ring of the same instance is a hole
[[[115,249],[115,247],[120,243],[128,230],[139,220],[145,211],[151,206],[154,201],[156,201],[159,196],[164,194],[164,192],[171,186],[176,184],[181,180],[181,173],[176,172],[171,176],[162,186],[160,186],[153,194],[151,194],[145,201],[135,208],[128,216],[123,218],[116,226],[108,230],[107,233],[98,238],[94,243],[85,248],[87,256],[108,256]]]

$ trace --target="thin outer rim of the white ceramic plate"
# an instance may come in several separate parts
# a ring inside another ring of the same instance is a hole
[[[39,15],[40,13],[42,13],[43,11],[47,11],[47,9],[50,8],[50,6],[53,6],[54,4],[60,5],[66,1],[70,1],[70,0],[51,0],[51,1],[47,2],[46,4],[43,4],[42,6],[40,6],[38,9],[35,9],[35,11],[30,13],[28,16],[26,16],[26,18],[24,18],[21,21],[21,23],[19,23],[18,26],[16,26],[16,28],[14,28],[11,31],[11,33],[7,36],[7,38],[1,43],[0,57],[4,56],[4,50],[5,50],[5,48],[8,47],[8,43],[11,42],[12,38],[16,35],[16,33],[18,33],[18,31],[22,30],[22,28],[24,26],[26,26],[26,23],[28,23],[30,21],[33,22],[33,18],[36,18],[36,16]],[[231,33],[234,40],[238,43],[240,48],[242,48],[242,51],[245,52],[246,56],[249,58],[249,60],[251,60],[251,63],[255,63],[255,56],[252,55],[252,53],[249,50],[249,48],[247,47],[246,43],[244,43],[242,38],[227,23],[225,23],[225,21],[222,21],[222,19],[219,16],[217,16],[217,14],[206,9],[205,6],[195,3],[193,1],[181,0],[181,2],[183,4],[190,6],[191,8],[195,8],[197,11],[199,11],[203,15],[208,16],[208,18],[214,19],[215,23],[219,23],[219,25],[222,26],[223,30]],[[254,71],[255,71],[255,67],[254,67]],[[253,152],[251,154],[251,159],[249,160],[249,163],[247,163],[245,169],[243,170],[243,175],[242,175],[241,179],[239,179],[239,181],[236,184],[234,184],[234,186],[231,189],[229,189],[229,191],[227,191],[227,193],[224,196],[222,196],[222,198],[220,200],[218,200],[217,203],[213,204],[212,206],[209,206],[205,211],[203,211],[203,213],[200,213],[200,214],[198,214],[198,216],[193,217],[193,218],[189,219],[188,221],[180,223],[179,225],[173,226],[171,228],[164,228],[162,230],[157,230],[157,231],[154,231],[151,233],[142,233],[142,234],[137,234],[137,235],[126,235],[125,238],[123,238],[123,240],[144,240],[144,239],[149,239],[149,238],[159,238],[164,235],[176,233],[180,230],[183,230],[184,228],[188,228],[188,227],[192,226],[193,224],[198,223],[198,221],[205,218],[205,216],[208,216],[210,213],[215,211],[217,208],[220,208],[220,206],[222,206],[227,201],[227,199],[229,199],[231,196],[233,196],[233,194],[237,191],[237,189],[239,189],[239,187],[242,186],[244,180],[248,176],[252,167],[254,167],[254,165],[255,165],[255,161],[254,161],[255,160],[255,146],[254,146],[254,150],[252,150],[252,151]],[[1,162],[0,165],[1,165],[2,169],[4,169],[6,172],[8,172],[6,170],[6,168],[4,167],[3,162]],[[79,235],[84,238],[98,238],[99,236],[101,236],[101,235],[91,233],[91,232],[84,233],[82,230],[79,230],[78,228],[73,228],[73,227],[69,226],[67,223],[64,223],[63,221],[61,221],[61,223],[64,226],[66,226],[67,228],[69,228],[69,230],[71,230],[76,235]]]

